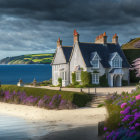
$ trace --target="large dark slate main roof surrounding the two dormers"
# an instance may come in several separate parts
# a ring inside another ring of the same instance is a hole
[[[101,58],[100,62],[105,68],[111,67],[109,64],[110,55],[117,52],[122,58],[122,67],[129,68],[127,59],[121,50],[119,45],[108,43],[108,44],[96,44],[96,43],[82,43],[79,42],[79,48],[81,50],[83,59],[87,67],[91,67],[90,56],[92,52],[97,52]]]

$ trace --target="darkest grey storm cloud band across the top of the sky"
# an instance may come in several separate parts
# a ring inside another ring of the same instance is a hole
[[[1,0],[0,11],[36,20],[99,26],[136,22],[139,5],[139,0]]]

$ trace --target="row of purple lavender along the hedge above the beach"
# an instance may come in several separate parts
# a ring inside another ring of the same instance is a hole
[[[44,97],[27,96],[25,92],[0,92],[0,101],[7,103],[24,104],[31,106],[38,106],[47,109],[68,109],[75,107],[71,102],[62,99],[60,94],[53,97],[45,95]]]

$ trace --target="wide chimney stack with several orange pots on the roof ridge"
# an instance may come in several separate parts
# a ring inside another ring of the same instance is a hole
[[[96,37],[95,43],[98,44],[106,44],[107,43],[107,36],[106,32]]]

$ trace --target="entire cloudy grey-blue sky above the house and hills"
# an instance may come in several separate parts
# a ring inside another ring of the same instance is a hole
[[[58,37],[73,44],[114,33],[123,44],[140,37],[140,0],[0,0],[0,58],[54,52]]]

